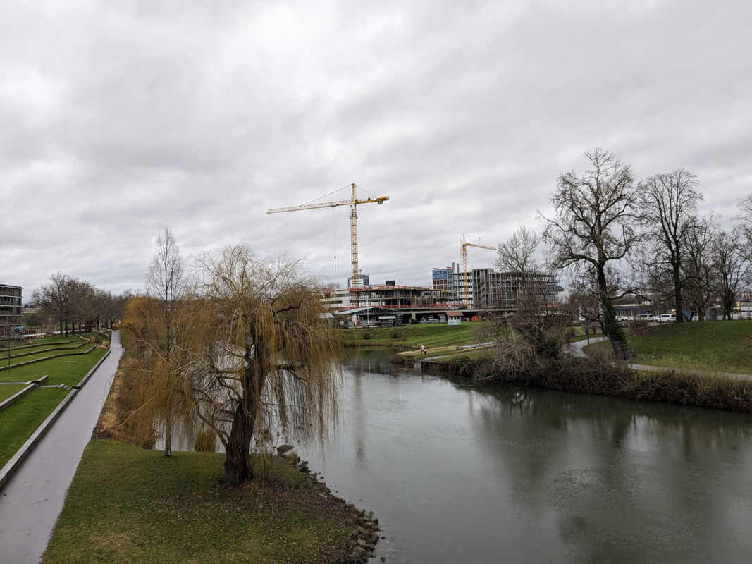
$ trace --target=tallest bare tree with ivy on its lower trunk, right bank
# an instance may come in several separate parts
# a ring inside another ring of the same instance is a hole
[[[574,171],[559,176],[551,197],[556,217],[539,214],[547,222],[544,239],[553,247],[557,264],[592,271],[603,333],[611,339],[617,358],[624,359],[626,336],[616,319],[606,266],[624,259],[635,244],[635,177],[614,153],[596,149],[585,156],[592,169],[584,176]]]

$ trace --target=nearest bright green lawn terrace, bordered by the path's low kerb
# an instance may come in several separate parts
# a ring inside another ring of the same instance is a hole
[[[63,388],[37,388],[0,411],[0,468],[70,392]]]

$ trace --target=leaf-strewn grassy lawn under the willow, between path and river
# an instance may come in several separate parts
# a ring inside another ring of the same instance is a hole
[[[45,553],[54,562],[333,562],[352,524],[284,460],[282,484],[229,490],[224,455],[91,441]]]

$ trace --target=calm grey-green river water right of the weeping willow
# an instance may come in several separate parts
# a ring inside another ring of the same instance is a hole
[[[472,387],[350,358],[314,472],[387,562],[752,562],[749,414]]]

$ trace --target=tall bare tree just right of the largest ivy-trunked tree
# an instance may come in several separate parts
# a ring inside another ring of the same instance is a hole
[[[671,276],[677,323],[684,321],[682,262],[696,223],[697,204],[702,201],[697,186],[697,177],[685,170],[655,174],[640,184],[641,216],[658,251],[647,262]]]

